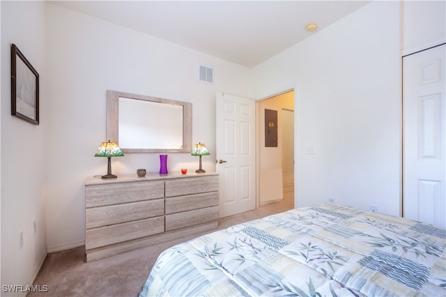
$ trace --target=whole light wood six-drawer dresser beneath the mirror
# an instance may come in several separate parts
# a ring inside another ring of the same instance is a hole
[[[94,261],[217,228],[216,173],[85,181],[85,253]]]

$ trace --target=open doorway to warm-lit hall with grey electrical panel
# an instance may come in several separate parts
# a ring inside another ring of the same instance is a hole
[[[294,208],[294,91],[256,102],[257,205]]]

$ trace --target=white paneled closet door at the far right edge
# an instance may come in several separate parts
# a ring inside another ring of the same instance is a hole
[[[403,58],[403,216],[446,227],[445,45]]]

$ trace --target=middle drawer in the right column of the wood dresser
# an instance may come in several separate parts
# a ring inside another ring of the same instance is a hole
[[[218,192],[166,198],[166,214],[218,205]]]

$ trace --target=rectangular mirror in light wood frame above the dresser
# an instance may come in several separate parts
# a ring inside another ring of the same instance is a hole
[[[190,153],[192,103],[107,90],[107,140],[124,153]]]

